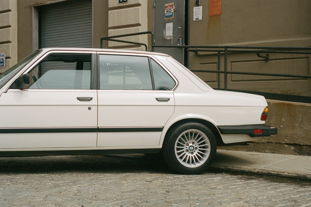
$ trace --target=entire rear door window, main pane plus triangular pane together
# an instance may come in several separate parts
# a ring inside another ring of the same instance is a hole
[[[175,81],[148,57],[100,55],[101,90],[172,90]]]

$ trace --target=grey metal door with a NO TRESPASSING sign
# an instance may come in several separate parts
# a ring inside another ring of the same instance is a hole
[[[155,45],[184,45],[185,42],[185,1],[154,1]],[[156,52],[171,55],[184,64],[183,48],[155,48]]]

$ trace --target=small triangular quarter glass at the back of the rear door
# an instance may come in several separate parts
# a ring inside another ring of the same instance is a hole
[[[176,84],[174,79],[153,59],[151,59],[151,66],[155,90],[172,90]]]

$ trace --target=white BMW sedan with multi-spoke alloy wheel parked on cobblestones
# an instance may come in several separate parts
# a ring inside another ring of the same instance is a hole
[[[0,75],[0,109],[0,156],[161,152],[181,174],[277,134],[264,97],[213,90],[154,52],[37,50]]]

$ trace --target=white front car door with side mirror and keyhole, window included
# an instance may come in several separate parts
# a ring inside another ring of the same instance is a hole
[[[31,150],[96,147],[97,92],[91,53],[52,52],[0,96],[0,148]]]

